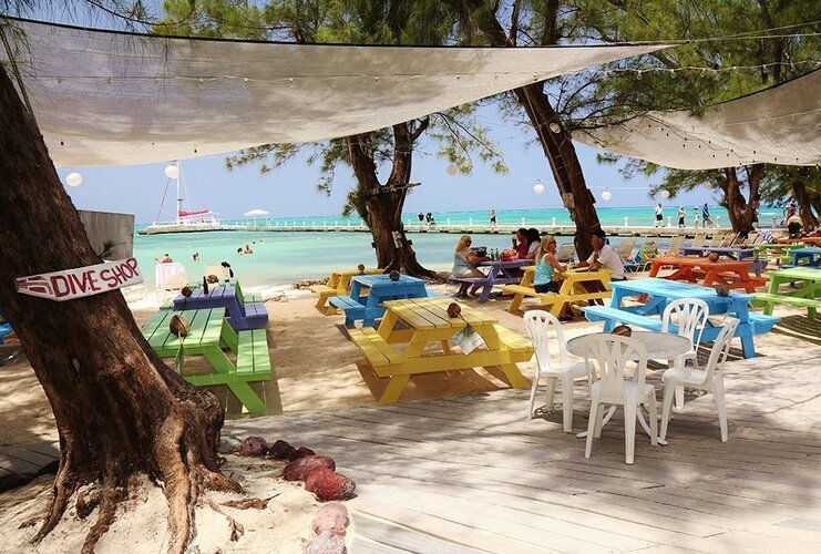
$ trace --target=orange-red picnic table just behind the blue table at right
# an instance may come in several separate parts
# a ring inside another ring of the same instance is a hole
[[[747,293],[755,293],[756,287],[767,284],[766,277],[750,275],[753,269],[752,260],[719,259],[710,261],[708,258],[691,256],[663,256],[651,260],[650,277],[658,276],[658,271],[665,267],[673,267],[670,275],[663,276],[665,279],[686,280],[697,283],[706,287],[723,286],[727,288],[742,288]]]

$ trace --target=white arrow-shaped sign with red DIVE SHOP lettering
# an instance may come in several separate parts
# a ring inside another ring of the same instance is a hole
[[[30,275],[17,279],[17,291],[52,300],[72,300],[143,283],[136,259],[119,259],[96,266]]]

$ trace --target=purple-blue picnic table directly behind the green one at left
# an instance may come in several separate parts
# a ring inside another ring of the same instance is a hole
[[[195,288],[188,297],[181,294],[174,298],[175,310],[207,308],[226,310],[228,324],[236,331],[264,329],[268,325],[268,310],[261,295],[244,294],[237,280],[211,285],[207,293],[204,288]]]

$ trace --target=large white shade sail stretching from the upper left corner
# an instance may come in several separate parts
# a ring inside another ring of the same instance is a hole
[[[23,32],[7,38],[58,167],[346,136],[665,48],[301,45],[13,23]]]

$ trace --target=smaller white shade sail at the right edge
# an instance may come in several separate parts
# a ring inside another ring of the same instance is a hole
[[[708,107],[650,112],[624,124],[579,131],[591,146],[678,170],[711,170],[766,162],[821,163],[821,70]]]

